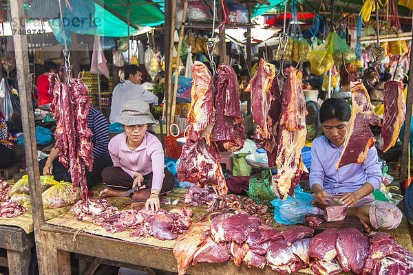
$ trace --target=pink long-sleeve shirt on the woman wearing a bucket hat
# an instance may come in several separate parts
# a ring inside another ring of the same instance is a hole
[[[142,175],[153,173],[152,190],[161,190],[165,177],[164,152],[155,135],[145,133],[142,144],[131,151],[126,143],[126,134],[120,133],[109,142],[109,153],[115,167],[122,168],[132,178],[138,172]]]

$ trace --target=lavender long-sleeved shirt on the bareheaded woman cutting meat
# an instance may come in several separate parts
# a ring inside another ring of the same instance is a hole
[[[363,164],[348,164],[336,170],[343,145],[339,148],[326,136],[317,137],[311,148],[310,187],[319,184],[329,194],[354,192],[366,182],[379,188],[382,174],[377,150],[373,146]]]

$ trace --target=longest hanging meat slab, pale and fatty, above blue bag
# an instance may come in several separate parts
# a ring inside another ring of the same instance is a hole
[[[301,72],[294,67],[286,69],[287,78],[283,88],[282,117],[277,133],[277,175],[272,178],[273,186],[280,199],[294,196],[294,188],[304,166],[301,150],[306,142],[306,100],[302,91]]]

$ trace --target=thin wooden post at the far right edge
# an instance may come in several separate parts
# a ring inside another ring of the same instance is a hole
[[[401,165],[400,165],[400,190],[404,195],[404,182],[407,177],[407,163],[409,161],[409,142],[410,142],[410,123],[412,122],[412,107],[413,107],[413,50],[410,49],[410,65],[409,65],[409,84],[407,86],[406,100],[406,119],[403,131],[403,144],[401,146]],[[411,149],[411,148],[410,148]],[[410,179],[409,179],[410,180]]]

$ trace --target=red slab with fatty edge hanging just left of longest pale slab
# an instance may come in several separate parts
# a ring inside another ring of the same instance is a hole
[[[268,111],[270,110],[271,85],[274,77],[275,66],[261,59],[255,75],[245,89],[246,92],[251,92],[253,121],[257,123],[256,132],[261,136],[262,140],[268,139],[271,135],[268,131],[267,118]]]

